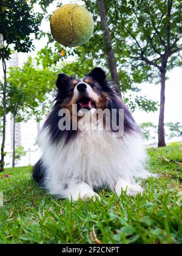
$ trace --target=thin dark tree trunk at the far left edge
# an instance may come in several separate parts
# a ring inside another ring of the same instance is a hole
[[[4,72],[4,88],[2,93],[3,104],[3,123],[2,123],[2,144],[1,144],[1,168],[0,171],[4,171],[4,147],[5,147],[5,118],[6,118],[6,94],[7,94],[7,78],[6,78],[6,64],[5,59],[2,57],[2,68]]]

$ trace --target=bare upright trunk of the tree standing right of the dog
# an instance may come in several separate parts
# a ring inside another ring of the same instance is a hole
[[[160,116],[158,120],[158,147],[165,147],[164,105],[165,105],[166,71],[161,71]]]

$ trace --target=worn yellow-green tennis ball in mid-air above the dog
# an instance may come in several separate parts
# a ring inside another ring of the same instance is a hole
[[[50,18],[53,38],[64,46],[80,46],[93,34],[93,18],[88,10],[78,4],[59,7]]]

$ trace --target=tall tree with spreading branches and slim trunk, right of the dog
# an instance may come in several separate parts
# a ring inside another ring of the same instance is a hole
[[[150,75],[154,70],[160,77],[158,147],[163,147],[166,145],[164,136],[166,72],[174,66],[181,65],[178,54],[181,48],[177,45],[182,28],[180,2],[118,1],[116,9],[120,9],[116,18],[121,21],[123,36],[126,35],[128,38],[127,44],[126,41],[124,43],[122,55],[132,60],[132,69],[140,70],[142,67],[144,70],[146,66]]]

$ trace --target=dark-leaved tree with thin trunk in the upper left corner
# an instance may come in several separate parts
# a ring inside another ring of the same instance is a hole
[[[22,0],[4,0],[0,3],[0,33],[4,36],[6,44],[0,49],[0,59],[4,72],[3,85],[3,131],[1,145],[1,168],[4,170],[4,146],[5,146],[5,117],[7,106],[7,67],[6,60],[10,58],[10,46],[18,52],[29,52],[33,49],[31,33],[38,33],[41,24],[42,15],[34,13],[32,6],[27,1]]]

